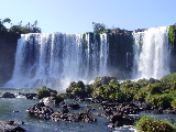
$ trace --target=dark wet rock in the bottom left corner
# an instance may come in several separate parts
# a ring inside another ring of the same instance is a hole
[[[0,121],[1,132],[24,132],[25,130],[19,125],[23,124],[22,121]]]

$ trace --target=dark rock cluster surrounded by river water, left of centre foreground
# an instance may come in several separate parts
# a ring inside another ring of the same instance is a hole
[[[44,120],[54,120],[54,121],[68,121],[68,122],[96,122],[97,119],[91,117],[89,110],[82,112],[70,113],[68,109],[79,109],[79,105],[69,103],[64,105],[62,110],[54,112],[53,109],[48,106],[45,106],[44,102],[34,105],[32,108],[28,109],[28,113],[31,117]]]

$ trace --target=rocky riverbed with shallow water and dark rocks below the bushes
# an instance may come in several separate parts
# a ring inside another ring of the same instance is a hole
[[[12,95],[15,98],[12,98]],[[165,117],[173,122],[176,120],[176,116],[170,114],[175,113],[174,110],[151,108],[146,103],[109,103],[107,101],[96,103],[91,98],[76,98],[65,99],[59,105],[55,105],[45,100],[28,99],[30,95],[33,94],[19,94],[18,90],[11,90],[8,94],[3,91],[1,96],[3,98],[0,98],[0,120],[24,122],[24,124],[15,125],[14,130],[19,128],[26,131],[91,131],[91,127],[102,132],[136,131],[133,123],[141,114],[150,114],[155,118]],[[2,124],[3,127],[10,125]]]

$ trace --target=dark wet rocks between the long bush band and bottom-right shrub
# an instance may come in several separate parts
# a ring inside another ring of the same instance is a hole
[[[95,116],[102,116],[110,120],[114,127],[122,127],[123,124],[132,125],[138,118],[140,108],[134,103],[101,103],[99,106],[103,113],[92,112]]]

